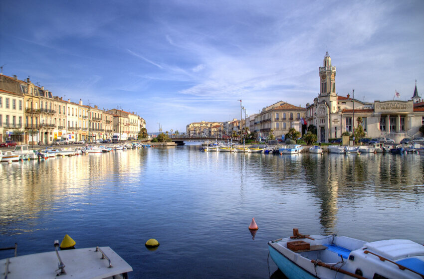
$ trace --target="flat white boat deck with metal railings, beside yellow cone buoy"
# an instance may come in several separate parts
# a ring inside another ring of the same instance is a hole
[[[110,247],[62,251],[56,248],[51,252],[0,260],[1,278],[7,279],[127,279],[132,271],[131,266]]]

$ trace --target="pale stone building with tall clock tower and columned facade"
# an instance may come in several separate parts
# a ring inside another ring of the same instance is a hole
[[[365,103],[347,94],[336,93],[336,67],[326,53],[324,65],[319,68],[320,93],[312,105],[307,104],[306,121],[317,128],[317,141],[329,142],[340,138],[344,132],[352,134],[358,127],[357,118],[362,118],[362,127],[367,138],[385,137],[395,142],[403,138],[421,135],[424,111],[419,107],[420,96],[417,84],[409,101],[388,100]],[[352,92],[354,94],[354,90]],[[416,105],[414,105],[414,102]]]

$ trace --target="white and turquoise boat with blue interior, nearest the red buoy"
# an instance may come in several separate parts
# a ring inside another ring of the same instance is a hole
[[[336,235],[293,236],[268,242],[289,279],[423,279],[424,246],[405,239],[365,242]]]

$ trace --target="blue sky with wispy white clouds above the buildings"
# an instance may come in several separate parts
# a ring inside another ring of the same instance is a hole
[[[312,103],[327,50],[341,96],[408,100],[417,80],[424,98],[423,14],[423,0],[2,0],[0,66],[185,132],[239,119],[240,99],[247,115]]]

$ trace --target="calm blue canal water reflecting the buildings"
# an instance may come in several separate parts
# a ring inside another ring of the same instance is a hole
[[[0,247],[53,251],[69,234],[77,248],[112,247],[133,267],[130,278],[268,278],[277,267],[267,241],[293,228],[424,243],[424,155],[199,147],[2,163]],[[150,238],[160,243],[155,251],[144,246]]]

